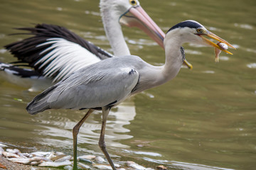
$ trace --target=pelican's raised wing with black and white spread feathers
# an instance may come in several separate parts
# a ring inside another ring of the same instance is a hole
[[[43,23],[35,28],[18,29],[30,31],[21,34],[34,36],[6,45],[6,49],[18,58],[16,63],[26,63],[53,81],[60,81],[82,67],[113,57],[60,26]]]

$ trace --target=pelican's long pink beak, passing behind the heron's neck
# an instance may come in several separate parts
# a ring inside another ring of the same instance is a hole
[[[124,26],[137,27],[143,30],[150,38],[164,48],[165,33],[156,25],[142,6],[133,6],[119,18],[119,23]],[[192,64],[184,60],[183,64],[192,69]]]

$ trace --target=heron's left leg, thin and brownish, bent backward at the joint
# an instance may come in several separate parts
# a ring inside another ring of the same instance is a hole
[[[78,162],[77,162],[77,151],[78,151],[78,132],[79,129],[81,127],[81,125],[85,122],[85,120],[89,117],[90,113],[92,113],[94,110],[90,109],[89,111],[87,111],[87,113],[85,114],[85,116],[79,121],[78,124],[75,125],[75,127],[73,128],[73,170],[78,169]]]

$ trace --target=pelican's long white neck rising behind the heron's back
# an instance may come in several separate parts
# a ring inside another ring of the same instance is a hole
[[[101,8],[103,26],[114,55],[131,55],[127,43],[124,40],[119,18],[112,11],[110,9],[107,10],[103,6]]]

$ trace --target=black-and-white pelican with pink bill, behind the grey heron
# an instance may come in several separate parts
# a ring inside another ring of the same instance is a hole
[[[16,65],[33,67],[21,69],[10,64],[0,63],[0,70],[23,78],[38,80],[43,77],[52,79],[53,83],[66,79],[73,72],[89,64],[100,62],[109,57],[131,55],[124,40],[120,23],[129,27],[138,27],[164,47],[165,34],[147,15],[137,0],[101,0],[100,12],[105,33],[114,55],[80,38],[70,30],[49,24],[37,24],[35,28],[18,28],[27,30],[33,37],[6,45],[6,49],[18,58]],[[192,65],[185,60],[186,65]]]

